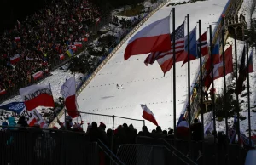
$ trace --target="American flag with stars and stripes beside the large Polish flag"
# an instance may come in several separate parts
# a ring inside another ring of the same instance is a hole
[[[173,32],[171,34],[171,38],[173,36]],[[173,41],[171,42],[173,45]],[[182,53],[185,49],[185,42],[184,42],[184,22],[182,25],[178,26],[175,30],[175,53],[179,54]],[[145,65],[153,64],[155,60],[161,59],[168,54],[173,54],[173,48],[167,52],[152,52],[148,55],[148,57],[144,60]]]

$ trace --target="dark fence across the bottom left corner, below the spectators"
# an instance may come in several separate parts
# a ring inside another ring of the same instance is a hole
[[[99,164],[96,143],[86,134],[61,130],[22,128],[0,130],[0,164]]]

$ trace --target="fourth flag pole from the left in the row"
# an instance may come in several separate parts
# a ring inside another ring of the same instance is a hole
[[[211,66],[212,66],[212,112],[213,112],[213,130],[216,132],[216,120],[215,120],[215,94],[214,94],[214,80],[213,80],[213,56],[212,56],[212,25],[209,26],[209,31],[210,31],[210,49],[211,49]],[[218,164],[218,159],[217,159],[217,148],[216,148],[216,134],[214,134],[214,153],[215,153],[215,164]]]

